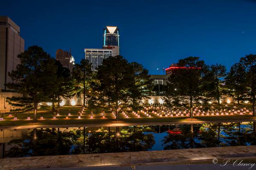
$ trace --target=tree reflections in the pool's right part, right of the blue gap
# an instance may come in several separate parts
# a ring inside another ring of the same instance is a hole
[[[165,150],[256,144],[256,123],[209,123],[180,125],[182,133],[168,133],[162,140]]]

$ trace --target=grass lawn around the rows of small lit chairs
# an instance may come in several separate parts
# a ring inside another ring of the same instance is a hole
[[[230,105],[230,108],[233,105]],[[243,108],[243,105],[239,105]],[[220,107],[220,106],[218,106]],[[249,108],[249,106],[246,106]],[[18,113],[18,120],[14,120],[14,115],[8,117],[8,114],[5,114],[2,121],[0,121],[0,126],[18,126],[18,125],[67,125],[67,124],[105,124],[105,123],[116,123],[115,117],[110,111],[106,111],[105,119],[102,118],[101,113],[94,113],[93,119],[90,119],[90,113],[86,109],[82,113],[81,119],[78,119],[78,111],[81,107],[79,106],[63,106],[59,109],[60,116],[56,116],[56,119],[53,119],[53,112],[50,110],[50,107],[46,111],[38,111],[37,123],[33,123],[33,113],[30,113],[30,119],[27,120],[28,113]],[[215,107],[217,108],[217,107]],[[224,105],[221,108],[225,108]],[[226,107],[227,108],[227,107]],[[66,118],[68,110],[71,109],[71,116]],[[40,120],[40,116],[44,117],[43,120]],[[186,122],[191,121],[188,117],[159,117],[156,114],[151,114],[152,117],[148,117],[144,114],[140,114],[140,118],[137,118],[134,114],[129,111],[128,118],[126,118],[122,113],[120,113],[120,120],[118,123],[138,123],[138,122]],[[253,119],[252,115],[229,115],[229,116],[194,116],[194,121],[205,121],[205,120],[233,120],[233,119]]]

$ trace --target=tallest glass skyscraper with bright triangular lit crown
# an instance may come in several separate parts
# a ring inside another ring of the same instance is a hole
[[[119,28],[117,26],[106,26],[103,28],[103,48],[112,49],[112,56],[119,55]]]

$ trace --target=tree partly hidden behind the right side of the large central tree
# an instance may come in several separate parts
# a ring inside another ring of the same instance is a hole
[[[133,68],[133,83],[131,87],[132,108],[137,110],[142,99],[149,98],[153,88],[148,70],[137,62],[130,63]]]

